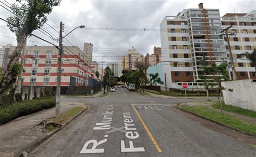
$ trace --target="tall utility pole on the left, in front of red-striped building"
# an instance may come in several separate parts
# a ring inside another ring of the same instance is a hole
[[[58,74],[57,74],[57,89],[56,89],[55,117],[59,117],[60,81],[61,81],[61,74],[62,74],[62,31],[63,31],[63,23],[60,22],[60,27],[59,27],[59,52],[58,52]]]

